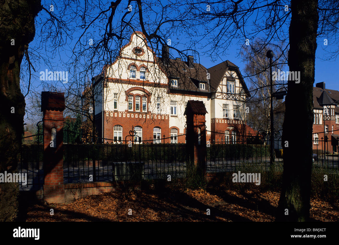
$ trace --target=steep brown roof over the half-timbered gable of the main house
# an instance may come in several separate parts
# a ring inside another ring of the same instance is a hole
[[[251,96],[250,92],[248,91],[248,88],[246,86],[246,83],[244,82],[244,79],[242,78],[242,75],[240,73],[239,67],[237,67],[234,63],[232,63],[229,60],[223,61],[211,68],[208,68],[207,71],[210,73],[210,85],[211,85],[211,91],[217,91],[218,86],[221,83],[226,71],[235,71],[238,75],[239,81],[242,84],[242,87],[248,97]]]

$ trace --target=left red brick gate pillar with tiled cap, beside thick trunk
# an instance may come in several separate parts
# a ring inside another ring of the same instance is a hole
[[[41,92],[43,112],[43,199],[48,203],[63,203],[63,110],[64,93]]]

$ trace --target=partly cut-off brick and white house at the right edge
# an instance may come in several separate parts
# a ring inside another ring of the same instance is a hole
[[[316,83],[313,88],[313,149],[334,153],[339,138],[339,91],[326,89],[325,82]],[[327,137],[327,143],[321,138]]]

